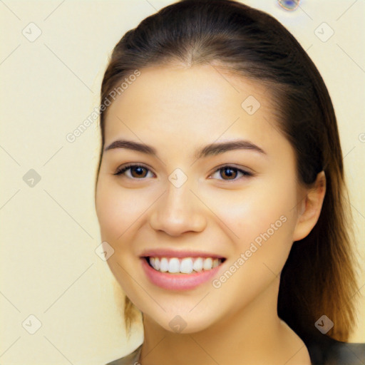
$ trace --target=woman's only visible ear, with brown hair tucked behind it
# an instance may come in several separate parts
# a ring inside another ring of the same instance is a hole
[[[302,192],[304,197],[298,205],[298,218],[294,227],[293,241],[302,240],[312,231],[321,214],[325,193],[326,175],[324,175],[324,171],[321,171],[317,175],[314,186]]]

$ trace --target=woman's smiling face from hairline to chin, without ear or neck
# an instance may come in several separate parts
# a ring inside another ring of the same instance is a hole
[[[108,108],[101,238],[125,294],[161,327],[200,331],[252,303],[276,312],[304,196],[276,115],[263,86],[212,66],[142,69]]]

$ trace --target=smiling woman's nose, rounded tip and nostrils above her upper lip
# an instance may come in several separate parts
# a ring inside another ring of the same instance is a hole
[[[169,183],[163,196],[153,205],[150,226],[170,236],[202,232],[206,226],[204,205],[187,183],[181,187]]]

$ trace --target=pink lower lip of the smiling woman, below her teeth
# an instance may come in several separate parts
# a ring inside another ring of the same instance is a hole
[[[168,290],[190,290],[198,285],[207,282],[217,274],[222,267],[220,264],[210,270],[194,272],[193,274],[169,274],[168,272],[159,272],[150,267],[146,259],[142,260],[142,267],[150,282],[160,288]]]

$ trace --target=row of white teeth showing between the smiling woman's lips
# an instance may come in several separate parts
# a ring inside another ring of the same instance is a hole
[[[142,257],[150,267],[158,272],[169,274],[192,274],[210,271],[225,262],[225,258],[216,257]]]

